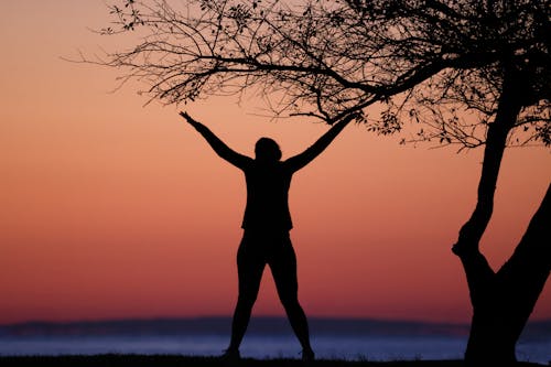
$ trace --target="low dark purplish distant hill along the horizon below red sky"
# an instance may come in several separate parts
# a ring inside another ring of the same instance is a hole
[[[312,335],[343,336],[467,336],[468,324],[381,321],[370,319],[309,319]],[[0,326],[2,336],[44,335],[229,335],[230,317],[26,322]],[[249,334],[292,335],[284,317],[252,317]],[[521,341],[551,341],[551,320],[530,322]]]

